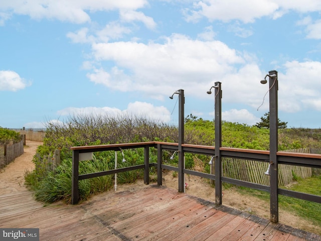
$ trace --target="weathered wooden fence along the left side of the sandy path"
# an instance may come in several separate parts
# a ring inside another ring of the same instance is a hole
[[[24,140],[15,144],[0,145],[0,169],[24,153]]]

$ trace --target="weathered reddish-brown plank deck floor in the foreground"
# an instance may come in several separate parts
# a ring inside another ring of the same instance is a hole
[[[162,186],[43,204],[30,192],[0,196],[0,227],[40,228],[40,240],[321,240],[319,235]]]

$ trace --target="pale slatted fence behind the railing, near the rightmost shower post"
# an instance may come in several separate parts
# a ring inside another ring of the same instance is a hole
[[[310,153],[309,148],[292,149],[284,152]],[[242,181],[257,183],[269,186],[270,178],[265,172],[268,169],[268,162],[256,162],[234,158],[222,158],[222,173],[224,177],[239,179]],[[278,185],[286,186],[293,182],[296,177],[307,178],[315,174],[310,167],[278,165]]]

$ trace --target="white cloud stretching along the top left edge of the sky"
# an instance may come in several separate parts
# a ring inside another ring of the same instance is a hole
[[[0,11],[81,24],[90,21],[87,12],[136,10],[146,5],[147,0],[10,0],[0,1]]]

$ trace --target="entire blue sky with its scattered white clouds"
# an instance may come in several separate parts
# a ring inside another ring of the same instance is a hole
[[[279,3],[282,2],[282,3]],[[278,109],[288,127],[321,128],[319,0],[0,0],[0,126],[43,128],[78,114],[254,125]]]

